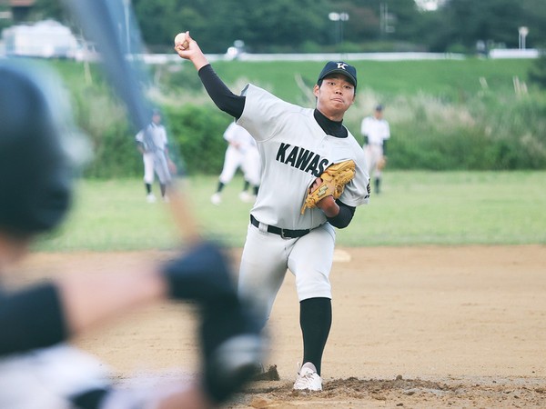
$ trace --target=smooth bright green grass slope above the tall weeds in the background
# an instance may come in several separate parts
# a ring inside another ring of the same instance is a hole
[[[359,73],[359,93],[372,92],[379,95],[418,95],[424,93],[451,101],[460,102],[468,95],[482,91],[483,77],[493,93],[513,92],[513,77],[527,80],[533,60],[529,59],[479,59],[464,60],[418,60],[418,61],[354,61]],[[80,87],[84,80],[83,63],[52,61],[69,85]],[[202,86],[191,63],[180,60],[175,64],[185,72],[184,79],[177,78],[173,91],[183,97],[188,90]],[[277,61],[245,62],[217,61],[213,63],[218,75],[229,85],[244,85],[246,82],[260,85],[289,102],[301,101],[303,92],[298,88],[295,76],[301,75],[305,84],[312,87],[324,62]],[[93,76],[100,75],[96,66]],[[237,88],[233,89],[238,91]],[[191,93],[190,93],[191,94]]]

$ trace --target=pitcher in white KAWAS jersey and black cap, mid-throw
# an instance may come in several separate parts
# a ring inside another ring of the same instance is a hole
[[[303,108],[254,85],[234,95],[188,32],[187,40],[187,49],[176,45],[177,54],[195,65],[215,104],[234,116],[258,143],[261,185],[250,211],[239,292],[254,298],[265,324],[287,270],[295,275],[303,365],[294,389],[319,391],[322,354],[332,321],[333,226],[346,227],[355,208],[369,202],[364,153],[342,124],[355,100],[356,69],[330,61],[313,88],[316,109]],[[318,207],[300,214],[307,191],[317,185],[322,170],[348,159],[356,163],[356,175],[339,200],[329,195]]]

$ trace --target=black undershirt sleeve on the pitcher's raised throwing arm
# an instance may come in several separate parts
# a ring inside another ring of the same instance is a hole
[[[199,78],[205,86],[210,99],[225,113],[239,118],[243,115],[246,97],[235,95],[215,73],[212,65],[205,65],[199,70]]]

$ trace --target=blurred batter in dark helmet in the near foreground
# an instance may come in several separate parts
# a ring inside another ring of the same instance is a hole
[[[64,86],[44,71],[0,62],[0,191],[10,192],[0,195],[0,407],[206,409],[224,402],[254,374],[261,341],[216,244],[188,246],[167,263],[93,274],[75,265],[53,279],[6,285],[5,274],[15,273],[35,237],[54,230],[71,204],[74,136],[63,120],[67,103],[53,96]],[[150,387],[140,378],[129,389],[113,382],[104,363],[66,344],[167,298],[199,306],[204,373],[194,379],[162,378]]]

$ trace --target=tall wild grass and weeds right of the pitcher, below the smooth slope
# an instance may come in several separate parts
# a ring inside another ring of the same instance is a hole
[[[385,95],[365,90],[358,106],[387,107],[389,165],[397,169],[511,170],[546,168],[546,97],[494,94],[483,89],[465,104],[418,93]],[[361,111],[346,124],[359,137]]]

